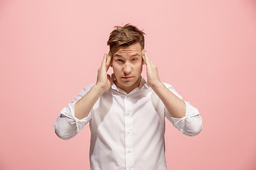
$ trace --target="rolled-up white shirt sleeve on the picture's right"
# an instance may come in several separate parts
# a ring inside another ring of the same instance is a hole
[[[173,86],[169,84],[164,84],[167,89],[169,89],[173,94],[175,94],[178,98],[183,98],[181,95],[177,93]],[[165,116],[170,122],[174,125],[178,131],[182,132],[187,136],[195,136],[198,135],[203,129],[203,120],[201,115],[199,115],[199,111],[197,108],[193,107],[191,103],[184,101],[186,103],[186,115],[183,118],[173,118],[169,111],[164,108]]]

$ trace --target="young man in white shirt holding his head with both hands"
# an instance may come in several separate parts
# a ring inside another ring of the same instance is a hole
[[[55,133],[68,140],[90,122],[92,170],[166,169],[165,117],[188,136],[201,132],[202,118],[173,86],[159,80],[157,67],[144,50],[142,30],[129,24],[116,28],[96,84],[85,86],[60,111]],[[141,75],[143,64],[147,81]]]

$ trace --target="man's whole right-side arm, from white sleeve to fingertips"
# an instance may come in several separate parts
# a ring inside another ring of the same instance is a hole
[[[188,136],[197,135],[202,130],[202,118],[198,110],[190,103],[183,101],[182,98],[178,98],[161,83],[157,67],[149,60],[145,50],[142,52],[142,57],[146,64],[147,84],[164,103],[169,114],[166,117],[183,134]]]

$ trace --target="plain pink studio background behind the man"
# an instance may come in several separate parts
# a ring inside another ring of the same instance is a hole
[[[88,125],[65,141],[53,123],[125,23],[144,29],[161,81],[203,118],[196,137],[166,120],[167,168],[255,170],[254,0],[1,0],[0,169],[89,169]]]

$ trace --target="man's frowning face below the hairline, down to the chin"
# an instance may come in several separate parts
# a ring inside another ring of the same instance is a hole
[[[120,47],[112,54],[112,67],[119,89],[129,93],[139,86],[142,74],[142,47],[139,42]]]

